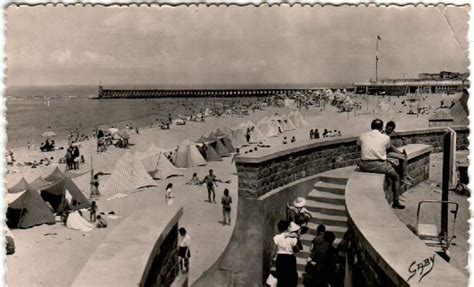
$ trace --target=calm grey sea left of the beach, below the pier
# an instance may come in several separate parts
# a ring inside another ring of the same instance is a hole
[[[236,106],[254,99],[93,99],[97,86],[11,87],[6,91],[7,148],[39,145],[51,130],[66,140],[76,128],[89,137],[99,125],[156,127],[171,113],[190,115],[214,105]]]

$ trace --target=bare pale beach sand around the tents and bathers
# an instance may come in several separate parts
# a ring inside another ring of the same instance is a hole
[[[397,101],[397,100],[396,100]],[[398,103],[401,100],[398,99]],[[439,99],[431,99],[432,105],[438,105]],[[397,104],[398,104],[397,103]],[[376,101],[372,100],[369,111],[375,108]],[[408,108],[403,108],[407,110]],[[258,119],[271,115],[275,112],[288,112],[289,108],[268,108],[264,111],[251,112],[246,117],[209,118],[205,123],[190,122],[185,126],[172,126],[171,130],[161,130],[157,128],[142,130],[139,135],[133,134],[131,142],[135,145],[131,150],[146,150],[150,144],[161,147],[174,147],[185,137],[196,139],[201,135],[207,135],[212,130],[220,127],[233,127],[249,119],[256,122]],[[353,113],[337,113],[334,108],[328,107],[326,111],[319,108],[303,110],[309,127],[299,128],[295,131],[286,132],[284,136],[290,139],[292,136],[297,141],[307,140],[309,130],[318,128],[320,132],[324,128],[338,129],[343,135],[357,135],[369,129],[370,121],[376,116],[368,113],[367,110],[359,111],[357,116]],[[364,113],[361,115],[361,113]],[[384,112],[378,117],[383,120],[394,119],[398,129],[410,129],[416,127],[427,127],[429,115],[407,116],[405,113]],[[280,145],[282,136],[270,138],[267,144]],[[244,148],[241,153],[250,149]],[[86,158],[86,164],[81,166],[82,171],[90,170],[90,156],[93,156],[94,171],[111,172],[116,161],[124,154],[125,150],[111,148],[106,153],[97,155],[95,153],[95,143],[93,141],[81,144],[81,153]],[[47,154],[54,156],[55,162],[64,155],[64,151],[55,151]],[[15,156],[18,162],[39,159],[44,157],[38,151],[26,151],[26,149],[15,149]],[[64,165],[61,165],[63,167]],[[14,167],[10,170],[17,170],[16,173],[9,173],[6,176],[8,186],[14,185],[22,176],[28,181],[35,179],[39,175],[47,175],[53,167],[40,167],[31,169],[29,167]],[[182,205],[184,215],[180,225],[188,229],[192,237],[192,260],[190,282],[195,281],[206,271],[219,257],[229,241],[233,225],[222,226],[220,204],[211,204],[207,200],[207,191],[204,186],[186,186],[184,183],[191,177],[193,172],[197,172],[202,178],[207,171],[212,168],[217,176],[222,179],[232,180],[231,184],[220,184],[217,188],[217,200],[220,200],[225,187],[229,188],[234,198],[234,208],[232,211],[233,222],[235,222],[237,206],[237,177],[234,174],[235,167],[230,164],[230,158],[222,162],[211,162],[207,166],[193,169],[184,169],[184,177],[175,177],[169,180],[157,181],[158,188],[144,192],[129,194],[128,197],[108,201],[108,197],[113,194],[105,194],[98,200],[98,206],[102,211],[115,211],[122,216],[117,220],[109,220],[110,228],[105,230],[94,230],[89,233],[82,233],[66,229],[63,225],[38,226],[27,230],[14,230],[16,236],[17,252],[7,257],[8,284],[10,286],[67,286],[72,283],[74,277],[79,273],[82,266],[87,262],[90,255],[100,242],[109,234],[131,212],[139,210],[144,206],[156,206],[166,208],[164,204],[164,186],[168,182],[174,184],[176,198],[175,205]],[[86,174],[75,179],[75,182],[89,194],[90,175]],[[106,176],[101,178],[104,183]],[[46,233],[57,233],[57,235],[44,236]]]

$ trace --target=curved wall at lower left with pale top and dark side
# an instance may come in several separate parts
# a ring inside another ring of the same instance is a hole
[[[140,209],[107,236],[72,286],[170,286],[178,276],[182,207]]]

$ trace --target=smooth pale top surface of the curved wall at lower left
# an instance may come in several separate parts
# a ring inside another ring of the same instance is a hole
[[[97,247],[72,286],[142,286],[160,245],[182,215],[182,207],[133,212]]]

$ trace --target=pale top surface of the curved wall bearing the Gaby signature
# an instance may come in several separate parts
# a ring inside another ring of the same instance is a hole
[[[384,175],[354,172],[346,187],[349,221],[360,233],[362,244],[395,285],[467,286],[468,279],[449,265],[403,224],[387,203]],[[419,282],[419,272],[412,273],[413,261],[435,256],[433,270]]]

